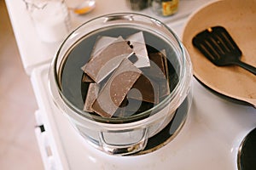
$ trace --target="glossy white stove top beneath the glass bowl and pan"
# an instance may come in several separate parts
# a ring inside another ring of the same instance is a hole
[[[142,156],[108,156],[74,131],[50,99],[48,68],[32,72],[55,165],[51,169],[225,169],[234,170],[241,140],[256,127],[256,110],[219,98],[193,81],[193,103],[181,132],[166,146]],[[43,105],[44,104],[44,105]]]

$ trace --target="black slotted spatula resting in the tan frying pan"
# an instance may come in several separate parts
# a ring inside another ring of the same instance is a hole
[[[192,40],[214,65],[239,65],[256,75],[256,68],[240,60],[241,50],[222,26],[214,26],[198,33]]]

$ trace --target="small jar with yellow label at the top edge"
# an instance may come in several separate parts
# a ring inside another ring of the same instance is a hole
[[[152,0],[152,10],[161,16],[170,16],[177,13],[179,0]]]

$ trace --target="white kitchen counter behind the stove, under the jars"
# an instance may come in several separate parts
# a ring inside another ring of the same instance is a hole
[[[68,6],[73,6],[78,0],[66,0]],[[26,4],[22,0],[17,0],[15,3],[11,0],[6,0],[6,5],[9,11],[9,17],[15,32],[16,42],[20,51],[20,57],[28,75],[32,69],[38,65],[49,63],[55,56],[55,52],[61,42],[42,42],[32,23],[32,18],[26,10]],[[142,11],[135,11],[141,14],[147,14],[158,20],[172,26],[174,23],[187,19],[188,15],[201,4],[208,3],[209,0],[181,0],[178,13],[170,17],[160,17],[154,14],[150,8]],[[114,4],[114,5],[113,5]],[[119,13],[119,12],[134,12],[125,4],[125,0],[97,0],[96,8],[89,14],[77,15],[70,12],[71,30],[84,22],[93,19],[102,14]],[[176,30],[177,34],[181,34],[182,30]]]

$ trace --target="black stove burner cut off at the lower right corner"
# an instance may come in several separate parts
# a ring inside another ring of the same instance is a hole
[[[256,169],[256,128],[247,134],[241,142],[237,163],[239,170]]]

